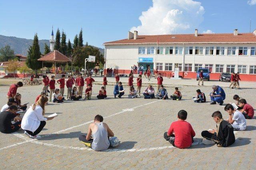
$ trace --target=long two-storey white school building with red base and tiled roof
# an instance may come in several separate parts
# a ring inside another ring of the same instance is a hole
[[[129,74],[131,66],[148,66],[166,76],[180,69],[183,78],[196,78],[198,68],[208,68],[210,79],[221,72],[240,72],[243,81],[256,81],[256,30],[253,33],[213,33],[174,35],[138,35],[128,31],[128,38],[106,42],[104,68],[116,68]]]

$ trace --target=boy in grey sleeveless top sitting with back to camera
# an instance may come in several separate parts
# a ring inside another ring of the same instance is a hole
[[[91,136],[93,136],[93,139]],[[80,135],[79,140],[87,147],[91,147],[95,151],[100,151],[108,149],[110,146],[109,137],[113,136],[114,133],[108,125],[103,123],[103,117],[96,115],[94,117],[94,123],[89,125],[87,136]]]

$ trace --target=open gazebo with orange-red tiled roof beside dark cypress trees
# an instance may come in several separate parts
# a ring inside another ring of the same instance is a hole
[[[42,61],[42,68],[44,68],[44,63],[54,63],[54,75],[56,77],[56,63],[68,63],[71,62],[71,60],[65,56],[64,54],[60,53],[58,50],[51,51],[50,53],[47,53],[38,61]]]

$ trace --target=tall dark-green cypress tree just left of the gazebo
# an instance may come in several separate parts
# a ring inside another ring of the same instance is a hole
[[[42,62],[38,61],[40,59],[40,47],[38,44],[38,37],[37,34],[34,36],[34,41],[32,46],[28,49],[28,57],[26,60],[26,65],[35,71],[35,74],[37,76],[37,71],[41,68]]]

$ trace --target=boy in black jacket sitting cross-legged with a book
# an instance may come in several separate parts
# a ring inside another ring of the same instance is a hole
[[[220,111],[212,113],[214,121],[217,123],[217,129],[209,129],[208,131],[202,131],[201,135],[207,140],[203,140],[206,145],[217,143],[218,147],[228,147],[235,142],[234,128],[230,123],[222,119]],[[210,143],[210,141],[212,143]]]

